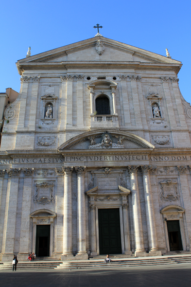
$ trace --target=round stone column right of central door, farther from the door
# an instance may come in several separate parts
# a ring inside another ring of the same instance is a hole
[[[160,256],[161,251],[158,251],[158,245],[157,245],[155,214],[154,214],[153,198],[152,198],[151,183],[149,176],[150,171],[152,171],[152,167],[150,165],[141,165],[140,168],[142,171],[142,178],[143,178],[149,251],[152,252],[153,255]]]

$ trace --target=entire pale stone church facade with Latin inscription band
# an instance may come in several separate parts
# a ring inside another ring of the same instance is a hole
[[[181,62],[98,34],[17,62],[0,145],[0,260],[190,251]]]

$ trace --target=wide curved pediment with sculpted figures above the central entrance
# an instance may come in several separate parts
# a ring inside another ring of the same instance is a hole
[[[63,150],[124,150],[124,149],[154,149],[155,146],[146,140],[129,132],[119,130],[93,130],[71,138],[58,147]]]

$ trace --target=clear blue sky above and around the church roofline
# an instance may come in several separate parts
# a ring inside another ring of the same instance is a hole
[[[191,1],[188,0],[6,0],[0,4],[0,91],[19,91],[16,62],[101,34],[182,62],[179,86],[191,102]]]

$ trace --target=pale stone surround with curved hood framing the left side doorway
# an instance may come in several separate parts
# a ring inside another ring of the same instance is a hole
[[[50,256],[53,252],[53,228],[54,228],[54,218],[56,214],[48,209],[39,209],[31,213],[31,218],[33,218],[33,251],[35,253],[36,249],[36,226],[37,225],[50,225]]]

